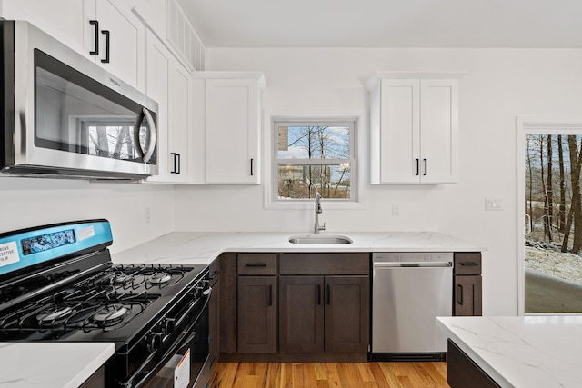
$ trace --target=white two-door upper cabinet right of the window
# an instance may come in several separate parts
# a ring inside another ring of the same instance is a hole
[[[371,184],[457,182],[461,75],[381,72],[369,80]]]

